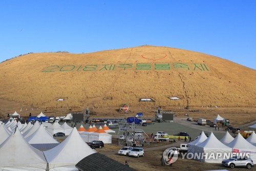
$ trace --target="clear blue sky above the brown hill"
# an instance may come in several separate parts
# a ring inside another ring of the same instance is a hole
[[[30,52],[141,45],[193,50],[256,69],[256,1],[1,1],[0,62]]]

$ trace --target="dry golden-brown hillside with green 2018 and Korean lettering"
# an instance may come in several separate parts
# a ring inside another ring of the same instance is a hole
[[[16,110],[20,106],[117,107],[124,102],[130,106],[256,104],[255,70],[216,56],[168,47],[30,53],[0,63],[0,74],[0,99],[15,104]],[[139,102],[139,98],[155,102]]]

